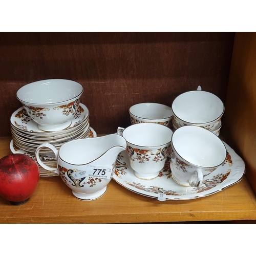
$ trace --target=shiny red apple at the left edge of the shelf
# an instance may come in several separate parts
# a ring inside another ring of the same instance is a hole
[[[0,196],[13,205],[26,203],[39,182],[37,163],[24,154],[11,154],[0,159]]]

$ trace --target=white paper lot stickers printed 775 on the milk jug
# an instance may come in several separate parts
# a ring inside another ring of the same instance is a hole
[[[112,173],[112,166],[110,165],[87,165],[85,170],[79,170],[72,173],[74,179],[81,179],[84,177],[110,179]]]

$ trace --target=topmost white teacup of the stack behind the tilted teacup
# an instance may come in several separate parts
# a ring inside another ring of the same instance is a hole
[[[196,125],[215,131],[224,114],[224,104],[216,95],[205,91],[190,91],[175,98],[172,111],[177,127]]]

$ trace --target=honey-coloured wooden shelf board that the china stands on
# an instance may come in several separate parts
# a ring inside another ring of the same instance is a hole
[[[0,157],[11,154],[0,137]],[[256,220],[256,197],[246,177],[214,195],[160,202],[117,184],[95,201],[77,200],[60,177],[40,178],[29,201],[13,206],[0,198],[0,223],[151,223]]]

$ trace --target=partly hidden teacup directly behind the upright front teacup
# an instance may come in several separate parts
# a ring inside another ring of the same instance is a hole
[[[130,110],[131,123],[159,123],[170,127],[173,118],[172,108],[160,103],[139,103],[131,106]]]

